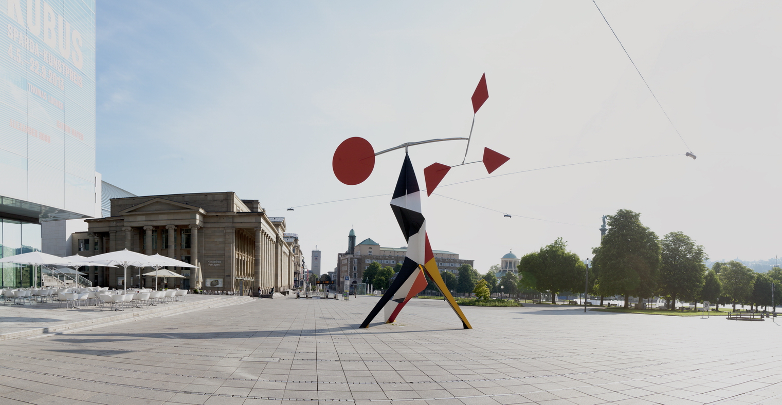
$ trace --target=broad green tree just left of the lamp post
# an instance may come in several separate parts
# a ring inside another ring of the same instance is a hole
[[[563,291],[579,291],[584,285],[583,264],[578,254],[569,252],[562,238],[541,247],[539,251],[525,254],[518,263],[522,285],[537,291],[550,291],[551,304],[557,303],[557,294]]]

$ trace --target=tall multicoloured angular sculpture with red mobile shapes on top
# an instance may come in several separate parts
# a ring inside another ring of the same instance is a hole
[[[424,169],[427,196],[432,195],[432,191],[434,191],[448,171],[453,167],[482,162],[486,167],[486,171],[490,173],[493,172],[499,168],[500,165],[508,162],[509,158],[500,155],[496,151],[492,151],[488,147],[483,150],[482,160],[465,163],[469,150],[469,143],[472,138],[472,129],[475,126],[475,114],[488,98],[489,91],[486,87],[486,75],[484,74],[478,83],[478,87],[475,88],[475,92],[472,94],[473,116],[469,137],[406,142],[397,147],[391,147],[377,153],[375,153],[372,145],[367,140],[364,140],[364,138],[352,137],[344,140],[342,144],[339,144],[339,147],[337,147],[334,152],[332,169],[334,170],[335,176],[342,183],[353,186],[364,182],[364,180],[368,179],[371,175],[372,169],[375,168],[375,156],[402,147],[404,147],[405,150],[402,170],[400,171],[399,179],[396,181],[396,188],[394,189],[393,197],[391,199],[391,209],[393,210],[394,216],[396,216],[396,222],[399,222],[400,229],[404,234],[404,239],[407,240],[407,252],[405,253],[400,272],[396,275],[396,278],[391,283],[391,286],[389,286],[389,289],[386,290],[386,293],[380,298],[378,304],[375,304],[375,307],[372,308],[372,311],[370,311],[367,318],[361,323],[361,328],[368,328],[369,323],[381,309],[385,309],[386,323],[394,322],[404,305],[407,304],[412,297],[415,297],[426,288],[428,282],[426,281],[425,275],[428,275],[429,279],[432,279],[432,281],[435,282],[437,288],[443,293],[445,300],[447,300],[450,307],[454,309],[454,312],[456,312],[457,316],[461,319],[462,326],[465,329],[472,329],[465,314],[461,312],[458,304],[456,304],[456,300],[451,296],[443,278],[439,274],[437,261],[432,253],[431,244],[429,243],[429,236],[426,234],[426,219],[421,213],[421,190],[418,187],[418,179],[415,176],[410,156],[407,155],[407,148],[418,144],[429,144],[446,140],[467,140],[465,159],[462,160],[461,164],[448,166],[440,163],[433,163]]]

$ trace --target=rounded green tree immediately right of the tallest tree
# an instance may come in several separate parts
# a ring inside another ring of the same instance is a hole
[[[675,303],[677,298],[692,300],[701,291],[708,260],[703,247],[681,232],[665,235],[660,243],[660,268],[657,277],[658,293]],[[676,311],[676,305],[671,306]]]

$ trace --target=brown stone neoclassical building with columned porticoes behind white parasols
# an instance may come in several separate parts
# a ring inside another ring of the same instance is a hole
[[[74,233],[74,252],[92,256],[127,249],[176,258],[201,269],[204,290],[287,290],[303,261],[298,235],[285,234],[285,217],[267,216],[257,200],[233,192],[113,198],[111,216],[86,222],[87,233]],[[130,270],[128,286],[154,284],[152,277],[139,280],[137,268]],[[195,269],[170,270],[186,278],[169,279],[169,287],[195,287]],[[93,285],[118,287],[124,281],[122,268],[81,271]]]

